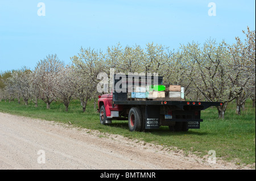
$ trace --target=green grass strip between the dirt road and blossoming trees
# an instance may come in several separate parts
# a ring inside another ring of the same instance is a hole
[[[130,132],[127,121],[112,121],[110,125],[101,125],[99,115],[90,102],[86,112],[82,112],[80,102],[73,100],[69,111],[65,112],[63,104],[53,102],[51,109],[46,104],[39,103],[39,107],[29,103],[25,106],[18,102],[0,102],[0,112],[8,112],[32,118],[68,123],[81,128],[98,130],[113,134],[164,145],[168,149],[177,147],[187,153],[194,153],[203,157],[209,150],[215,150],[217,158],[233,162],[237,165],[251,165],[255,163],[255,108],[250,101],[246,102],[241,116],[236,115],[236,105],[230,103],[225,113],[225,119],[217,119],[216,108],[208,108],[201,112],[204,119],[200,129],[189,129],[188,132],[170,132],[168,127],[146,132]],[[254,166],[255,168],[255,166]]]

